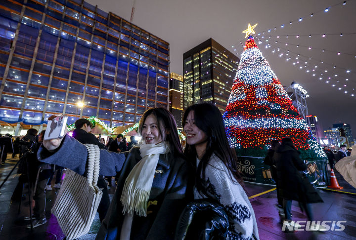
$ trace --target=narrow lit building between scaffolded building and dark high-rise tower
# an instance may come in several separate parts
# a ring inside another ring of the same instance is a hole
[[[183,76],[171,73],[170,79],[170,111],[173,114],[177,127],[182,128],[183,117]]]

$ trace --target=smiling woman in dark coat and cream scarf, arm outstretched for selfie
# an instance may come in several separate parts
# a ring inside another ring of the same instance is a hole
[[[100,175],[118,172],[119,178],[97,240],[174,239],[179,214],[192,197],[187,187],[192,168],[172,114],[164,108],[147,110],[138,132],[142,141],[130,152],[100,149]],[[45,141],[44,147],[50,151],[42,149],[38,155],[42,161],[84,173],[87,149],[75,139],[66,135]]]

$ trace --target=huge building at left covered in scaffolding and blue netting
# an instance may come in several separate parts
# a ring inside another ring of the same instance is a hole
[[[0,120],[17,122],[17,132],[51,114],[138,122],[147,108],[168,108],[169,49],[85,1],[3,0]]]

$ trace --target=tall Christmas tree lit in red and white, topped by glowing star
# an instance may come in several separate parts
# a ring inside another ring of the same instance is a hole
[[[255,26],[249,25],[246,35]],[[264,157],[270,140],[290,137],[302,159],[326,159],[252,36],[241,55],[223,118],[230,145],[239,156]]]

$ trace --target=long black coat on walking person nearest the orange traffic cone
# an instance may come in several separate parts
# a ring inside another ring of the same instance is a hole
[[[307,176],[301,172],[307,169],[307,165],[299,154],[292,144],[282,143],[273,155],[282,198],[306,203],[323,202]]]

